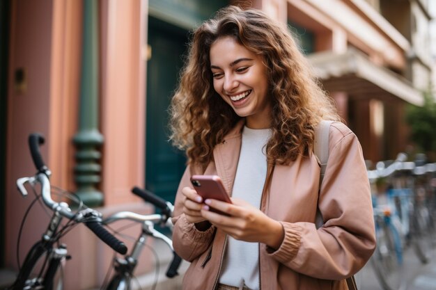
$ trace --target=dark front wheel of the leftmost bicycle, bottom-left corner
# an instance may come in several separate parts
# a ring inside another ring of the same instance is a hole
[[[51,246],[39,241],[26,256],[24,263],[10,290],[61,290],[63,279],[61,273],[61,259],[51,259]],[[49,277],[49,280],[46,279]]]

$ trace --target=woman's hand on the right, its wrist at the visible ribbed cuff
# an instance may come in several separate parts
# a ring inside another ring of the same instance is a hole
[[[281,223],[244,200],[232,198],[232,202],[233,204],[205,200],[206,205],[201,208],[201,216],[237,240],[265,243],[277,250],[284,237]],[[230,216],[216,214],[209,210],[210,207],[224,211]]]

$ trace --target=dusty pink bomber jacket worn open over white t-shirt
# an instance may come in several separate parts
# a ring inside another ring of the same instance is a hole
[[[173,246],[191,262],[183,289],[213,290],[221,271],[226,234],[214,226],[198,231],[182,214],[181,189],[194,174],[219,175],[232,192],[241,146],[242,123],[215,147],[205,172],[188,167],[176,195]],[[359,140],[345,124],[333,122],[329,132],[329,161],[319,188],[316,156],[300,157],[288,166],[274,166],[270,186],[263,189],[260,210],[283,225],[285,237],[271,252],[259,245],[260,289],[348,289],[354,275],[371,257],[375,229],[371,191]],[[318,194],[318,190],[319,194]],[[319,208],[324,225],[316,228]]]

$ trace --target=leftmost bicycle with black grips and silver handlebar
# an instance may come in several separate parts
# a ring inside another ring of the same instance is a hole
[[[8,288],[9,290],[63,289],[62,268],[65,261],[70,258],[70,255],[68,255],[66,245],[61,243],[60,239],[72,229],[72,227],[79,223],[85,223],[99,239],[107,243],[107,245],[116,250],[116,252],[120,252],[121,254],[127,252],[125,244],[102,226],[102,214],[100,212],[85,207],[73,195],[68,195],[59,188],[59,191],[62,193],[61,201],[56,202],[53,200],[53,198],[56,198],[56,188],[50,184],[49,177],[52,175],[52,172],[45,166],[45,162],[40,154],[40,145],[43,143],[44,137],[42,135],[29,135],[29,149],[37,172],[36,175],[32,177],[21,177],[17,179],[17,187],[23,197],[28,195],[25,184],[29,184],[33,189],[33,193],[36,195],[35,200],[31,202],[24,215],[22,226],[31,207],[33,207],[37,201],[40,202],[43,208],[52,211],[52,216],[49,219],[47,229],[42,234],[40,241],[37,241],[27,253],[15,282]],[[36,186],[40,186],[40,193],[37,193]],[[65,198],[70,198],[78,202],[79,206],[77,210],[73,211],[70,205],[65,202]],[[64,218],[68,219],[68,222],[65,224],[63,224]],[[18,244],[20,243],[21,232],[22,227],[19,233]],[[20,264],[20,261],[18,262]]]

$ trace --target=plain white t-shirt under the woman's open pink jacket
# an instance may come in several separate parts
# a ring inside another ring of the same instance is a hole
[[[233,198],[240,198],[260,208],[263,186],[267,176],[266,143],[271,129],[249,129],[242,131],[242,146],[236,170]],[[238,241],[228,236],[226,253],[219,282],[229,286],[247,285],[259,289],[259,243]]]

